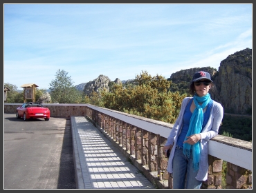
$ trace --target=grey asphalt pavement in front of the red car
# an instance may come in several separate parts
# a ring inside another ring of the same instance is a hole
[[[69,119],[4,114],[4,189],[75,189]]]

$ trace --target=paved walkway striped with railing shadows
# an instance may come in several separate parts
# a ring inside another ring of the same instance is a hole
[[[84,116],[71,116],[77,189],[156,189]]]

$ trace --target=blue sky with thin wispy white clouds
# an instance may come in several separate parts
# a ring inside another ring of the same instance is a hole
[[[253,47],[253,4],[4,4],[4,83],[48,89],[57,70],[73,85],[142,71],[170,78],[219,70]]]

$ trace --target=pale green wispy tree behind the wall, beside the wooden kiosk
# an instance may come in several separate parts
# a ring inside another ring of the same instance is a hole
[[[73,85],[71,77],[65,70],[57,70],[55,79],[51,81],[51,100],[53,103],[81,103],[82,92]]]

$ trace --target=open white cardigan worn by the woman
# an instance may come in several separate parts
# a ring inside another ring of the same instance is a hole
[[[170,135],[167,138],[165,146],[172,145],[173,148],[170,153],[167,172],[172,173],[172,159],[174,157],[175,147],[178,140],[178,135],[181,133],[182,123],[183,123],[183,114],[185,112],[186,105],[188,101],[193,97],[185,97],[181,103],[181,111],[179,113],[178,119],[174,123],[174,127],[170,132]],[[200,141],[200,161],[199,161],[199,170],[196,175],[196,180],[206,181],[208,178],[208,141],[212,137],[216,136],[219,132],[219,126],[223,119],[223,107],[220,103],[213,101],[212,109],[210,111],[210,117],[205,127],[201,131],[201,141]],[[178,135],[177,135],[178,134]]]

